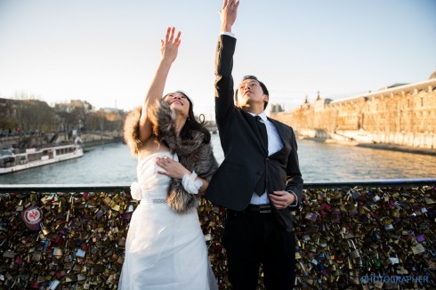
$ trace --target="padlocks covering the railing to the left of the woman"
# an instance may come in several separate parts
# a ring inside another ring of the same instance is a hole
[[[123,192],[2,194],[0,288],[116,289],[133,207]]]

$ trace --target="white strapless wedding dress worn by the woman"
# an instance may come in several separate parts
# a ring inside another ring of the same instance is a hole
[[[218,289],[198,213],[175,213],[164,202],[170,178],[157,173],[163,169],[155,163],[164,156],[172,157],[157,152],[138,163],[132,197],[141,202],[130,221],[118,288]]]

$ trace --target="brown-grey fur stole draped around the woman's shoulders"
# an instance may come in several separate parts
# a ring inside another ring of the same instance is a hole
[[[204,133],[192,131],[191,138],[182,139],[175,133],[172,111],[166,101],[157,101],[149,109],[148,117],[153,126],[153,134],[159,143],[165,143],[172,152],[176,152],[179,162],[190,172],[195,171],[199,177],[210,181],[218,168],[212,146],[204,141]],[[139,120],[141,107],[133,109],[125,119],[124,138],[133,156],[141,149],[139,140]],[[182,180],[171,179],[166,197],[166,204],[177,213],[197,210],[200,203],[199,194],[190,194],[182,186]]]

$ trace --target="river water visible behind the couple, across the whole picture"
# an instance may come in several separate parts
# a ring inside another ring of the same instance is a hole
[[[213,135],[214,155],[223,154]],[[436,178],[436,157],[317,141],[298,141],[305,182]],[[93,147],[83,157],[0,175],[1,184],[114,184],[136,179],[136,159],[123,143]]]

